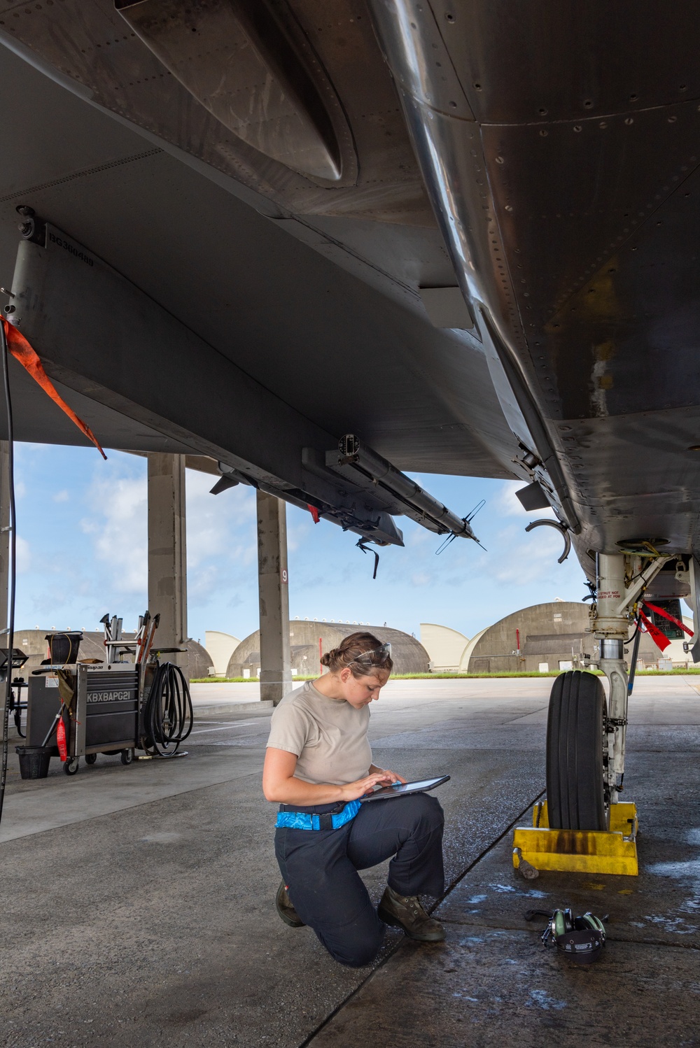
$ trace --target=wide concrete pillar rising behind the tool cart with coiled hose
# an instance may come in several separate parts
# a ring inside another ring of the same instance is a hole
[[[148,606],[160,615],[156,648],[188,637],[184,455],[148,456]],[[168,658],[187,665],[185,655]]]

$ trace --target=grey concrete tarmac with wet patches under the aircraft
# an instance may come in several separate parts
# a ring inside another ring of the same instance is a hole
[[[22,782],[13,754],[0,1043],[700,1045],[699,685],[635,685],[626,786],[640,811],[640,876],[525,882],[509,828],[544,789],[551,681],[390,682],[372,709],[376,762],[452,776],[437,794],[447,941],[389,930],[360,969],[275,912],[275,809],[260,790],[268,709],[223,716],[198,696],[181,760],[124,767],[101,756],[74,778],[52,761],[48,779]],[[382,867],[365,875],[375,900],[385,878]],[[566,904],[610,914],[590,968],[542,947],[544,918],[523,919]]]

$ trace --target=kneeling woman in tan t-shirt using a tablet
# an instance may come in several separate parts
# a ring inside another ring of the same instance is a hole
[[[328,673],[307,681],[272,714],[263,791],[280,803],[275,850],[282,872],[277,909],[308,924],[342,964],[375,956],[385,924],[438,942],[444,929],[420,904],[441,895],[443,815],[426,793],[359,804],[375,786],[406,782],[372,764],[369,704],[392,670],[389,645],[353,633],[323,656]],[[357,871],[393,856],[375,911]]]

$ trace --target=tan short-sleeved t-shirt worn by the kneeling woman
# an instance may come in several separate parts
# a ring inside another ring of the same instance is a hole
[[[342,786],[369,773],[369,706],[328,699],[307,680],[276,706],[267,745],[297,755],[294,778]]]

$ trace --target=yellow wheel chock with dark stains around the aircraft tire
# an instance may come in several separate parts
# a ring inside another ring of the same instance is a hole
[[[547,802],[540,801],[532,810],[532,828],[513,831],[512,865],[518,869],[524,858],[535,870],[636,877],[638,825],[637,806],[624,803],[610,806],[609,830],[550,830]]]

